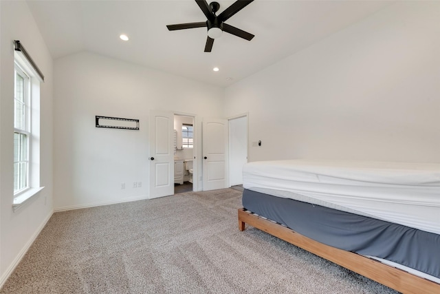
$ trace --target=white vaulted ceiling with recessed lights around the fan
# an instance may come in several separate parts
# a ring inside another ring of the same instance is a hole
[[[234,1],[217,0],[219,12]],[[209,3],[209,1],[208,1]],[[223,32],[203,52],[206,28],[169,32],[168,24],[206,21],[197,3],[40,1],[30,10],[54,59],[89,51],[227,87],[389,5],[390,1],[256,0],[225,21],[255,35]],[[119,39],[127,34],[129,41]],[[219,72],[213,72],[219,67]]]

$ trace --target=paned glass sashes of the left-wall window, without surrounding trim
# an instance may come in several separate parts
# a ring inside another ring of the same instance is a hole
[[[15,65],[14,78],[14,195],[29,188],[30,77]]]

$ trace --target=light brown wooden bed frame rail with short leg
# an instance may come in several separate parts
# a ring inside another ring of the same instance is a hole
[[[384,284],[401,293],[440,293],[440,284],[412,275],[393,266],[388,266],[377,260],[366,258],[357,253],[344,251],[328,246],[300,235],[291,229],[277,224],[260,216],[256,216],[245,209],[239,209],[239,230],[245,230],[245,224],[270,233],[281,240],[294,244],[302,249],[314,253],[321,258],[339,264],[346,269],[364,275],[371,280]]]

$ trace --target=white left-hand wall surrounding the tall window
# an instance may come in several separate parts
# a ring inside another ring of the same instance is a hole
[[[53,64],[25,1],[0,1],[0,286],[52,216]],[[14,134],[14,50],[19,40],[45,75],[41,83],[40,182],[45,189],[12,211]]]

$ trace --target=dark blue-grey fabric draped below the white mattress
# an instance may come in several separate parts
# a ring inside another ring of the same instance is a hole
[[[308,238],[440,278],[440,235],[245,189],[243,207]]]

